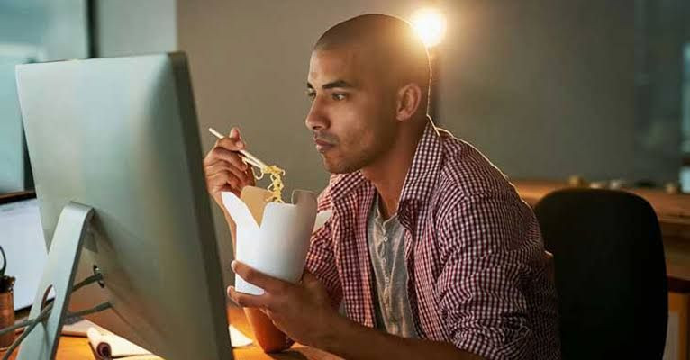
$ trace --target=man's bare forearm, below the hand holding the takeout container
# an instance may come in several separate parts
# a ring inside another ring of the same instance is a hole
[[[340,315],[333,318],[329,328],[316,347],[348,359],[482,359],[450,343],[396,337]]]

